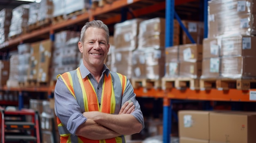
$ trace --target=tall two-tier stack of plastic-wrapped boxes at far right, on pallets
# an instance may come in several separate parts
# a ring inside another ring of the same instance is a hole
[[[202,78],[255,77],[255,0],[211,0]],[[229,21],[229,22],[226,22]]]

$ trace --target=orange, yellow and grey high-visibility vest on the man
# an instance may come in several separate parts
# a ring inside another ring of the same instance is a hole
[[[70,90],[81,107],[82,112],[100,111],[109,114],[119,113],[121,109],[121,96],[124,94],[126,87],[126,76],[112,72],[108,76],[104,74],[101,106],[99,106],[97,94],[89,78],[85,77],[82,79],[80,68],[58,76],[63,79],[68,90]],[[125,143],[124,136],[105,140],[90,140],[83,136],[72,136],[58,117],[57,124],[61,143]]]

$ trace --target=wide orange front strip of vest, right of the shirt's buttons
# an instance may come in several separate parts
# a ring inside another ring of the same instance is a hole
[[[102,97],[101,97],[101,112],[110,113],[111,110],[111,89],[112,89],[112,79],[111,76],[105,74],[103,87],[102,87]]]

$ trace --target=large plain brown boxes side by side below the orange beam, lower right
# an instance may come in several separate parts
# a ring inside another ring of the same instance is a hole
[[[256,114],[232,111],[179,111],[180,143],[255,143]]]

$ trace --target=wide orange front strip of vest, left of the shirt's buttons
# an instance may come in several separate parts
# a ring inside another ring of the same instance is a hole
[[[99,111],[99,102],[97,99],[97,95],[88,77],[83,79],[83,86],[86,89],[85,92],[88,99],[89,111]]]

